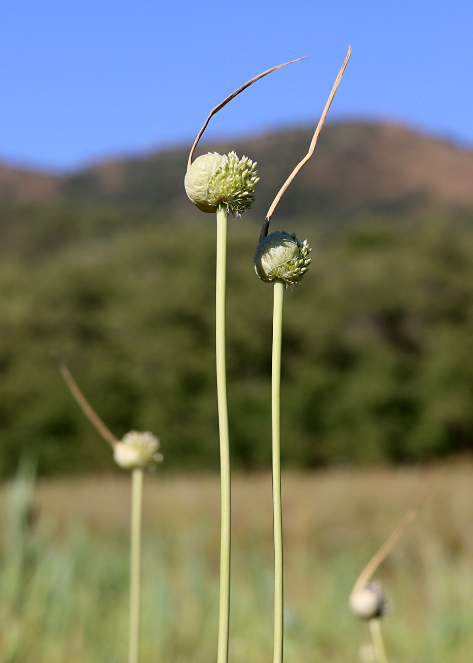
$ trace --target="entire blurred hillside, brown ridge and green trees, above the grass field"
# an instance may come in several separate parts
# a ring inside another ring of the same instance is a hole
[[[271,288],[253,255],[311,135],[202,148],[248,154],[261,173],[228,245],[232,457],[248,469],[271,456]],[[0,168],[0,476],[22,453],[43,474],[113,467],[51,352],[117,436],[160,436],[163,471],[218,468],[214,223],[184,194],[187,154],[74,176]],[[324,129],[273,220],[313,247],[285,304],[286,465],[473,452],[472,182],[473,154],[448,143],[381,124]]]

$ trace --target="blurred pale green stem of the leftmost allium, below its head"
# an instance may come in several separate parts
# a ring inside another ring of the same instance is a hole
[[[143,469],[131,473],[131,572],[130,572],[130,640],[129,663],[138,663],[139,595],[141,557],[141,512],[143,505]]]

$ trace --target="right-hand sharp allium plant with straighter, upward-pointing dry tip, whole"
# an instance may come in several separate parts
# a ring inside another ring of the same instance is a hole
[[[324,124],[328,109],[342,80],[352,50],[348,54],[338,73],[328,101],[317,125],[309,150],[303,160],[297,164],[289,178],[283,184],[271,204],[263,223],[259,244],[255,253],[255,272],[261,280],[273,283],[273,353],[271,362],[271,428],[272,428],[272,465],[273,465],[273,528],[274,528],[274,650],[273,662],[283,661],[283,515],[281,509],[281,452],[280,452],[280,392],[281,392],[281,339],[283,327],[284,291],[288,286],[296,286],[301,281],[310,265],[310,248],[307,241],[299,241],[295,233],[285,230],[268,235],[269,222],[281,196],[291,184],[304,163],[312,156],[320,129]]]

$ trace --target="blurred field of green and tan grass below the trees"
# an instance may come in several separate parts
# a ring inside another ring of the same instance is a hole
[[[370,661],[368,627],[348,611],[348,595],[429,471],[283,476],[287,663]],[[230,662],[269,662],[270,475],[236,475],[233,496]],[[33,512],[22,500],[21,483],[2,491],[0,662],[125,662],[129,477],[39,481]],[[217,476],[147,475],[143,663],[215,660],[219,514]],[[383,623],[390,663],[471,663],[470,461],[442,469],[377,578],[392,599]]]

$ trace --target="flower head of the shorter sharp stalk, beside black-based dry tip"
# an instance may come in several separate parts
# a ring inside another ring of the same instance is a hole
[[[266,283],[279,278],[286,287],[295,285],[308,271],[310,250],[307,240],[300,242],[296,233],[285,230],[271,233],[258,244],[255,272]]]

